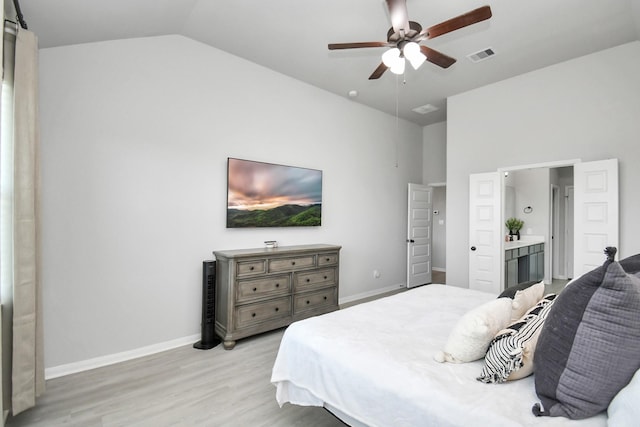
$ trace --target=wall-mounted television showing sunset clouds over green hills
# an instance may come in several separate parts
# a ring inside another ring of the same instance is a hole
[[[227,159],[227,228],[319,226],[322,171]]]

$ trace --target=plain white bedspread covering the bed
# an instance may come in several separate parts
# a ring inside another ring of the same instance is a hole
[[[533,377],[503,384],[476,380],[482,361],[433,360],[465,312],[494,295],[427,285],[293,323],[271,381],[276,399],[328,406],[368,426],[606,426],[535,417]]]

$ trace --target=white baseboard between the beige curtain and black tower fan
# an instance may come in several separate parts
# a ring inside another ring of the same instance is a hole
[[[171,341],[165,341],[158,344],[152,344],[146,347],[140,347],[134,350],[123,351],[122,353],[109,354],[106,356],[96,357],[93,359],[81,360],[79,362],[68,363],[66,365],[53,366],[45,368],[44,378],[50,380],[53,378],[63,377],[78,372],[89,371],[103,366],[113,365],[114,363],[125,362],[127,360],[137,359],[150,354],[160,353],[161,351],[171,350],[176,347],[195,343],[200,340],[200,335],[191,335],[188,337],[177,338]]]

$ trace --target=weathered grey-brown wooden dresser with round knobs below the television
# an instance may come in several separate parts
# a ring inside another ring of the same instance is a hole
[[[215,331],[236,340],[338,309],[340,246],[214,251]]]

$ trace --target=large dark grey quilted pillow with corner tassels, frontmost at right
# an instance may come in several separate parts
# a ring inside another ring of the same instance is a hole
[[[605,410],[640,368],[640,277],[637,258],[584,274],[559,294],[535,351],[535,415],[571,419]],[[623,264],[623,265],[621,265]]]

